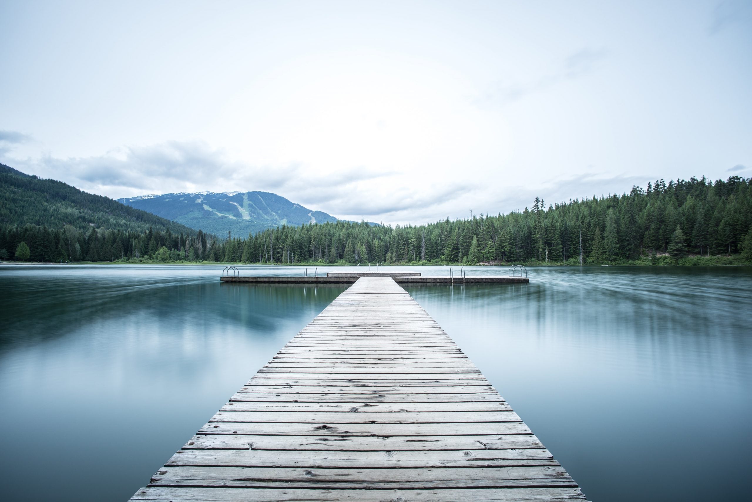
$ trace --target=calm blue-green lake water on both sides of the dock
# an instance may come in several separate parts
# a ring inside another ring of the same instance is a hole
[[[344,289],[221,269],[0,266],[5,500],[127,500]],[[745,500],[752,268],[529,274],[409,292],[590,500]]]

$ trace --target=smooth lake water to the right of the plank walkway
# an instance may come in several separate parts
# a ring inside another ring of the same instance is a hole
[[[750,269],[536,269],[532,277],[409,291],[590,499],[743,499]]]

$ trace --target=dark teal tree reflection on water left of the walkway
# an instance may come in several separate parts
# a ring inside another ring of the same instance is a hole
[[[11,277],[0,285],[0,347],[54,340],[102,321],[158,319],[180,333],[186,323],[235,323],[274,332],[281,319],[313,319],[344,290],[337,285],[240,285],[186,280]],[[292,334],[291,334],[292,336]]]

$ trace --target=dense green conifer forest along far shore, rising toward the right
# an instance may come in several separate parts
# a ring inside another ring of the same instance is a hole
[[[548,206],[536,198],[522,212],[430,225],[284,225],[231,240],[153,231],[123,234],[115,246],[126,259],[148,256],[161,261],[578,265],[582,259],[585,265],[605,265],[669,263],[702,255],[752,262],[750,184],[741,177],[715,183],[704,177],[658,180],[647,189],[635,186],[629,194]],[[20,237],[0,235],[0,248],[16,249]],[[84,256],[93,258],[88,251],[92,237],[97,237],[99,249],[110,244],[90,231],[80,247]]]

